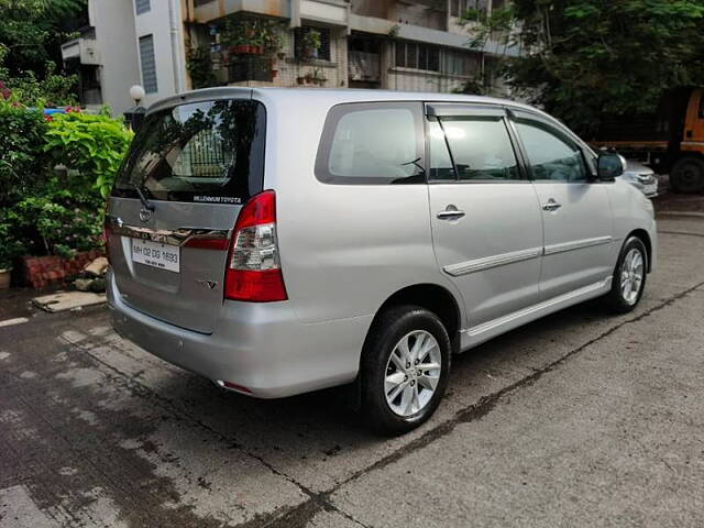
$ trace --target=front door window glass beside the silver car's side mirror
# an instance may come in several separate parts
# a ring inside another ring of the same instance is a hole
[[[582,150],[569,138],[535,121],[517,121],[528,165],[534,179],[551,182],[586,182]]]

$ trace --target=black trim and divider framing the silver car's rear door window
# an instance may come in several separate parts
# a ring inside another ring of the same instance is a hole
[[[447,136],[444,138],[444,143],[448,148],[448,153],[450,155],[450,160],[452,162],[452,168],[454,172],[455,179],[430,179],[430,167],[427,167],[426,174],[428,174],[428,184],[429,185],[475,185],[475,184],[497,184],[497,185],[506,185],[506,184],[530,184],[529,172],[526,168],[524,163],[522,152],[519,148],[517,143],[517,138],[515,135],[515,130],[513,130],[513,124],[508,120],[507,109],[499,105],[486,105],[486,103],[463,103],[463,102],[426,102],[426,127],[425,127],[425,135],[428,138],[428,124],[431,120],[440,121],[440,127],[442,128],[442,121],[438,118],[465,118],[471,120],[472,118],[496,118],[497,120],[503,121],[504,127],[506,128],[506,133],[508,134],[508,140],[510,142],[512,150],[514,152],[514,157],[516,158],[516,166],[518,167],[519,179],[459,179],[458,168],[454,163],[454,155],[452,154],[452,148],[448,142]],[[444,132],[444,129],[443,129]],[[426,160],[430,163],[430,141],[426,141]]]

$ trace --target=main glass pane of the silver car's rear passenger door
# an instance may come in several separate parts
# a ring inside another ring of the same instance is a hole
[[[506,123],[497,118],[442,118],[459,180],[520,179]]]

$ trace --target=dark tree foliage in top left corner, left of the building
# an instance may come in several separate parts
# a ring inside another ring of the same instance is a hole
[[[73,36],[72,26],[85,23],[80,16],[86,4],[87,0],[0,0],[0,43],[9,51],[10,76],[48,75],[47,63],[61,61],[61,43]]]

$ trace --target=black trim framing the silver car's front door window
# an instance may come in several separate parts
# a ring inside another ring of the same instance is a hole
[[[542,116],[538,112],[532,112],[530,110],[526,110],[524,108],[506,107],[506,112],[508,116],[509,128],[516,138],[516,144],[518,145],[518,150],[520,151],[521,164],[524,165],[524,169],[528,178],[530,179],[530,182],[532,182],[534,184],[562,184],[562,185],[585,185],[585,184],[593,184],[597,182],[595,168],[592,166],[592,164],[587,160],[588,154],[591,154],[592,156],[596,156],[596,154],[574,132],[572,132],[570,129],[564,127],[559,121],[553,121],[553,119],[551,118],[547,118],[546,116]],[[526,146],[524,145],[520,134],[516,129],[516,123],[518,121],[534,121],[540,124],[541,127],[549,129],[549,131],[553,131],[554,135],[557,135],[558,138],[562,136],[568,141],[571,141],[572,143],[574,143],[582,156],[582,165],[586,174],[586,180],[564,182],[564,180],[558,180],[558,179],[537,179],[532,174],[532,169],[530,168],[530,162],[528,158]]]

